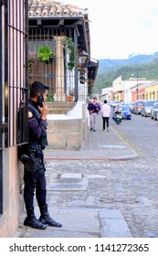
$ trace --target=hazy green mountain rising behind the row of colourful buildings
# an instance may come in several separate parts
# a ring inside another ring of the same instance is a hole
[[[136,55],[129,59],[99,59],[98,75],[93,91],[111,87],[119,76],[122,80],[130,77],[158,80],[158,52],[153,55]]]

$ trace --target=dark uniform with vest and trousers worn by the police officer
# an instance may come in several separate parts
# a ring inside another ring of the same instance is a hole
[[[25,164],[24,199],[26,208],[34,207],[36,189],[39,207],[46,205],[46,177],[43,150],[47,145],[47,122],[40,118],[37,102],[29,100],[28,104],[28,147],[30,159]]]

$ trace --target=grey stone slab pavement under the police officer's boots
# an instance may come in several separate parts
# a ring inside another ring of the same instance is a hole
[[[21,216],[15,238],[132,238],[132,233],[117,209],[101,208],[55,208],[52,197],[49,214],[63,224],[60,229],[27,229],[23,226],[26,217]],[[35,213],[39,211],[35,206]],[[153,234],[149,234],[153,235]]]

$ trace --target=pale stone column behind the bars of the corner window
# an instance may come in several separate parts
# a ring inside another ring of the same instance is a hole
[[[63,41],[65,37],[55,37],[56,40],[56,93],[54,94],[55,101],[66,101],[66,94],[64,91],[64,50]]]

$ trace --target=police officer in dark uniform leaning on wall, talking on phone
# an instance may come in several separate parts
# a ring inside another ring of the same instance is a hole
[[[25,162],[24,200],[26,205],[25,226],[34,229],[60,228],[47,211],[47,187],[43,150],[47,146],[47,90],[41,82],[33,82],[28,101],[28,157]],[[34,195],[40,210],[39,219],[34,212]]]

